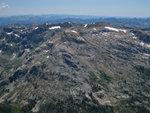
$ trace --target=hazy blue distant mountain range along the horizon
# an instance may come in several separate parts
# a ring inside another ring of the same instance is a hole
[[[18,15],[10,17],[0,17],[0,26],[7,24],[44,24],[44,23],[95,23],[108,22],[113,25],[124,25],[127,27],[141,28],[150,27],[150,18],[118,18],[84,15]]]

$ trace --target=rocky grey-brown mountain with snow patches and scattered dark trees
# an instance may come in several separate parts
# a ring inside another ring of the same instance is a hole
[[[149,113],[150,29],[3,26],[0,103],[0,113]]]

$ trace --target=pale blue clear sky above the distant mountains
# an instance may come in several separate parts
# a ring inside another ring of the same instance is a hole
[[[0,16],[24,14],[150,17],[150,0],[0,0]]]

